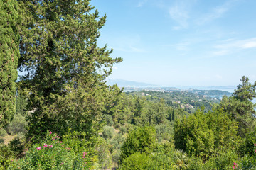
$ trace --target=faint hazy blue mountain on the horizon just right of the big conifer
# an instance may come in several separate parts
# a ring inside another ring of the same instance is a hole
[[[146,84],[143,82],[127,81],[122,79],[109,79],[107,80],[107,84],[111,86],[117,84],[119,87],[159,87],[155,84]]]

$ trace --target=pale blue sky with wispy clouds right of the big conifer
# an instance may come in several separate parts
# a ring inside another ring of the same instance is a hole
[[[98,46],[122,57],[109,79],[160,86],[256,81],[255,0],[92,0]]]

